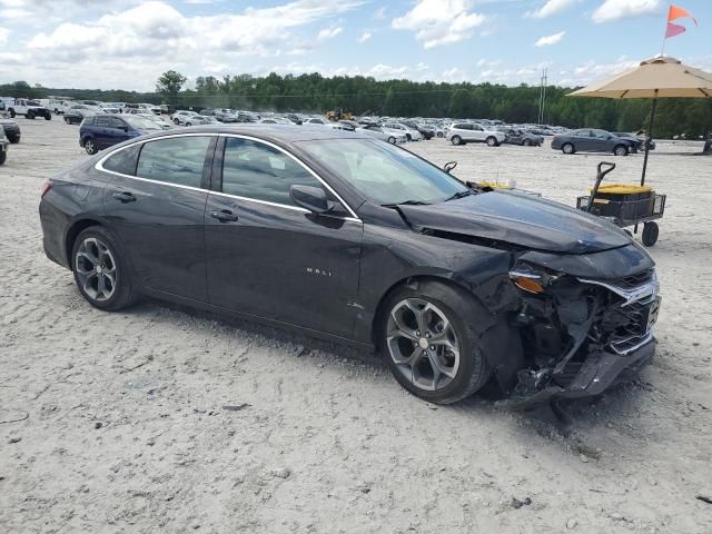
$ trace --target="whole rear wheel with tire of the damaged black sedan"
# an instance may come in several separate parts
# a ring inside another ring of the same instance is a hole
[[[136,301],[128,264],[109,230],[91,226],[81,231],[71,257],[75,281],[89,304],[113,312]]]

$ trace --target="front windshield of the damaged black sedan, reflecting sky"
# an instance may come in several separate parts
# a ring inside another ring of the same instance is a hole
[[[329,171],[379,205],[434,204],[468,191],[447,172],[387,142],[329,139],[299,145]]]

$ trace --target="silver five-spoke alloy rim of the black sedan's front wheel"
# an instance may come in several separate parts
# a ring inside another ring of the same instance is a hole
[[[433,303],[406,298],[396,304],[388,316],[386,343],[397,369],[421,389],[442,389],[457,376],[457,334]]]

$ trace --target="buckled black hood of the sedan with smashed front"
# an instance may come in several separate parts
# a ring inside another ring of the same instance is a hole
[[[604,219],[521,192],[482,192],[446,202],[398,208],[413,226],[532,250],[587,254],[631,243],[627,234]]]

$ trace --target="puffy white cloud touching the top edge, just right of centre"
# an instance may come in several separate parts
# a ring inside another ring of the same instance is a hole
[[[393,19],[390,26],[414,31],[425,49],[463,41],[486,20],[484,14],[469,11],[471,3],[469,0],[418,0],[411,11]]]

